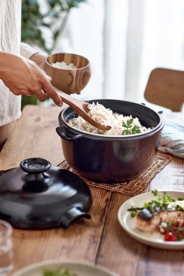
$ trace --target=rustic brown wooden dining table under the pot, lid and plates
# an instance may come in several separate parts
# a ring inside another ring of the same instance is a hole
[[[0,170],[20,166],[26,158],[41,157],[57,166],[63,159],[55,131],[59,107],[27,105],[0,154]],[[184,160],[176,157],[152,180],[149,190],[184,191]],[[183,275],[184,250],[145,246],[124,232],[117,219],[127,195],[90,187],[91,219],[81,219],[68,229],[13,232],[14,270],[48,259],[74,259],[100,264],[121,276]],[[11,273],[12,274],[12,273]]]

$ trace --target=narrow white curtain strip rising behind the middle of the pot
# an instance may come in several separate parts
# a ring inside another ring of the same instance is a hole
[[[104,10],[103,98],[124,99],[128,0],[106,0]]]

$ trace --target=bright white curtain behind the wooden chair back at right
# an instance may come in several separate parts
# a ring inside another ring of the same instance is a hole
[[[145,1],[139,100],[156,67],[184,71],[184,1]]]

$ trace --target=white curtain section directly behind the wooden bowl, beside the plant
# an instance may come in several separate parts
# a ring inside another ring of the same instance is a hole
[[[81,95],[76,96],[84,100],[103,97],[104,6],[104,0],[88,0],[73,8],[53,50],[53,53],[76,53],[90,60],[91,79]]]

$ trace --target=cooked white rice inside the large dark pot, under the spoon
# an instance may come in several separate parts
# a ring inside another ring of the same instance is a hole
[[[85,121],[81,116],[78,116],[76,118],[70,119],[69,124],[73,127],[84,130],[91,133],[96,134],[104,134],[104,135],[122,135],[122,131],[126,129],[126,127],[122,126],[122,122],[127,122],[128,119],[131,119],[132,116],[124,116],[123,114],[113,113],[110,108],[105,108],[102,104],[99,104],[98,102],[95,104],[94,102],[92,104],[88,105],[89,112],[88,114],[98,123],[105,126],[111,126],[109,130],[101,130],[87,121]],[[142,126],[139,122],[138,118],[133,119],[132,127],[134,125],[138,125],[140,127],[141,133],[150,131],[151,128],[146,128],[145,126]],[[134,134],[130,134],[134,135]]]

